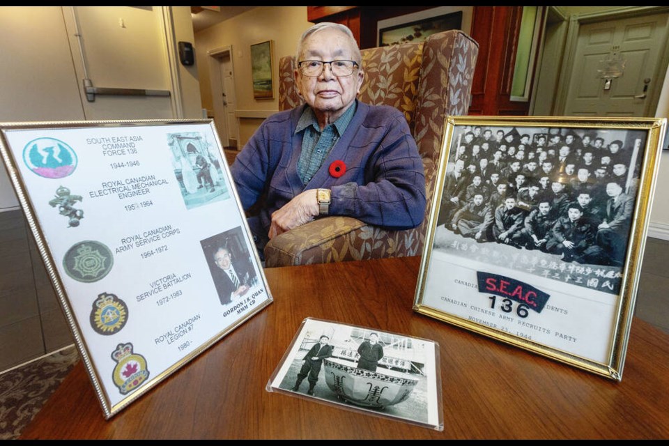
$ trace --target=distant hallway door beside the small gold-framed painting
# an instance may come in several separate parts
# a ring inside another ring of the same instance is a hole
[[[211,97],[214,106],[214,122],[221,143],[225,147],[238,148],[237,99],[235,74],[231,59],[232,49],[210,52],[213,63]]]

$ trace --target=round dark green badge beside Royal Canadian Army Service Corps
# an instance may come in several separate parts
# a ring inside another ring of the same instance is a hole
[[[79,282],[96,282],[109,274],[113,265],[112,251],[91,240],[73,245],[63,258],[65,272]]]

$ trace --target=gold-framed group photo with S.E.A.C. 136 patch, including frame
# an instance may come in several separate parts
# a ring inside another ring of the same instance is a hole
[[[621,380],[666,119],[445,126],[414,310]]]

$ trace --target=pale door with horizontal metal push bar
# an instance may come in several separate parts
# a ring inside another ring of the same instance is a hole
[[[87,121],[177,117],[162,7],[63,6],[63,18]]]

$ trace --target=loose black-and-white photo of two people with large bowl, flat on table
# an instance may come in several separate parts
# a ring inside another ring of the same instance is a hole
[[[428,339],[307,318],[266,390],[444,429],[439,346]]]

